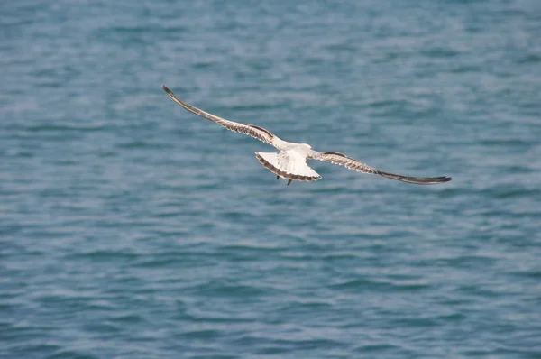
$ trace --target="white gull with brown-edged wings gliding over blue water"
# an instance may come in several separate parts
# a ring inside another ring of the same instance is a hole
[[[244,133],[253,138],[260,140],[263,143],[268,143],[278,149],[280,152],[255,152],[255,157],[261,162],[265,168],[276,175],[276,179],[289,179],[288,185],[293,180],[312,181],[321,179],[321,176],[308,166],[308,160],[328,161],[334,164],[344,166],[349,170],[357,172],[376,174],[388,179],[397,179],[402,182],[415,183],[418,185],[435,185],[451,180],[450,177],[409,177],[376,170],[373,167],[367,166],[361,161],[357,161],[340,152],[317,152],[312,150],[312,146],[307,143],[289,143],[281,140],[276,134],[271,133],[260,126],[254,124],[241,124],[234,121],[226,120],[225,118],[209,114],[195,106],[182,101],[179,97],[165,85],[161,85],[165,92],[180,106],[186,108],[189,112],[206,118],[216,124],[225,127],[226,129]]]

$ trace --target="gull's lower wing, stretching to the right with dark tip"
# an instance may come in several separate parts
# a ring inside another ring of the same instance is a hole
[[[344,166],[346,169],[356,170],[357,172],[378,174],[388,179],[397,179],[402,182],[415,183],[417,185],[436,185],[438,183],[444,183],[451,180],[451,177],[409,177],[399,174],[385,172],[383,170],[376,170],[373,167],[367,166],[361,161],[357,161],[351,157],[346,156],[340,152],[316,152],[310,156],[310,158],[319,161],[329,161],[331,163]]]

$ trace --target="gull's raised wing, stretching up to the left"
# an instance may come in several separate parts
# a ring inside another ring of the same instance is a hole
[[[201,117],[205,117],[207,120],[213,121],[216,124],[225,127],[229,131],[244,133],[260,140],[263,143],[269,143],[280,150],[281,140],[274,133],[271,133],[271,131],[268,131],[254,124],[241,124],[238,122],[226,120],[225,118],[218,117],[216,115],[209,114],[206,111],[203,111],[195,106],[191,106],[188,103],[182,101],[179,97],[175,96],[175,94],[173,94],[173,92],[165,85],[161,85],[161,87],[163,87],[165,92],[167,92],[167,94],[173,99],[173,101],[175,101],[180,106],[186,108],[189,112],[200,115]]]

